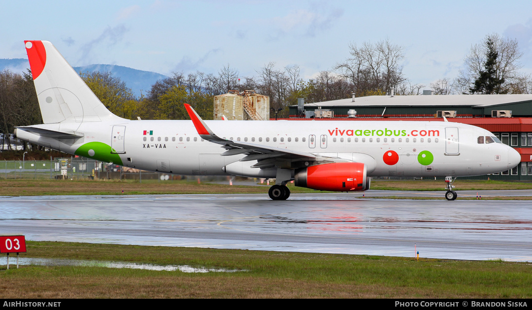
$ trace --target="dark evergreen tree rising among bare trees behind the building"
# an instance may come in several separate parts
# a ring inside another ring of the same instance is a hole
[[[498,52],[491,38],[486,41],[487,52],[484,70],[479,72],[475,85],[469,88],[471,94],[505,94],[508,91],[502,88],[504,78],[497,78],[495,65],[497,63]]]

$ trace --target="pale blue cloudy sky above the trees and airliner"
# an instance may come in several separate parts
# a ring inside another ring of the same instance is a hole
[[[269,62],[302,78],[349,56],[348,43],[405,47],[403,73],[428,85],[454,78],[489,33],[517,38],[532,73],[532,1],[12,1],[0,0],[0,58],[25,58],[23,40],[49,40],[72,66],[117,64],[170,75],[240,77]]]

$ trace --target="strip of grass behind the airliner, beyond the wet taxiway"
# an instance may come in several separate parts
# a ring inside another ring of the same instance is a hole
[[[274,183],[270,183],[272,185]],[[470,181],[457,180],[454,182],[457,190],[492,190],[492,189],[532,189],[532,183],[504,182],[504,181]],[[308,188],[295,187],[288,183],[294,194],[305,192],[321,192]],[[267,194],[269,186],[229,186],[196,181],[173,180],[0,180],[0,196],[40,196],[40,195],[138,195],[138,194]],[[444,190],[442,180],[372,180],[371,189],[377,190],[416,190],[433,191]],[[389,198],[389,197],[387,197]],[[443,196],[437,199],[445,199]],[[458,199],[466,199],[458,196]],[[497,198],[500,199],[500,198]],[[519,198],[519,199],[530,199]]]

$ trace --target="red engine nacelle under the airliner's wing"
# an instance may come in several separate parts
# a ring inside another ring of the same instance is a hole
[[[360,191],[368,190],[370,178],[367,177],[363,163],[331,163],[310,166],[296,170],[294,185],[319,190]]]

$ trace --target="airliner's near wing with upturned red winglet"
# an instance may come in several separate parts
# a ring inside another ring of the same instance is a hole
[[[226,152],[221,154],[221,156],[245,154],[246,156],[240,159],[240,161],[259,161],[257,164],[253,165],[257,168],[275,166],[275,161],[289,163],[294,161],[314,161],[317,159],[317,156],[311,153],[220,138],[207,127],[192,106],[185,104],[185,107],[200,137],[212,143],[219,144],[221,147],[227,149]]]

